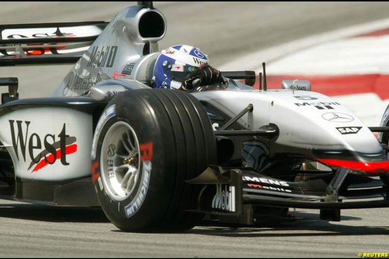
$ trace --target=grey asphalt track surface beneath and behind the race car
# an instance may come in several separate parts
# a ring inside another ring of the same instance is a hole
[[[2,2],[0,23],[110,20],[134,2]],[[217,67],[251,51],[389,17],[387,2],[155,2],[167,18],[159,46],[192,44]],[[261,61],[258,61],[260,64]],[[244,64],[239,64],[244,66]],[[71,66],[0,68],[21,98],[50,96]],[[245,68],[237,68],[243,70]],[[100,208],[0,201],[0,257],[358,257],[389,252],[389,208],[343,210],[341,222],[299,219],[258,227],[197,226],[125,233]]]

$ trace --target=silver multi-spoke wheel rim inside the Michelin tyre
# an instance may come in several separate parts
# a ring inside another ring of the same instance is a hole
[[[140,149],[133,128],[115,122],[106,132],[101,148],[101,175],[108,195],[125,200],[134,191],[140,172]]]

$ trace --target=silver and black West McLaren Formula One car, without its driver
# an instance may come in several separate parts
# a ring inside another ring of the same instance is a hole
[[[265,69],[263,89],[251,71],[155,89],[165,32],[152,2],[110,23],[0,26],[0,66],[75,62],[49,98],[0,79],[1,198],[101,206],[129,231],[389,206],[389,109],[369,128],[308,81],[267,90]]]

